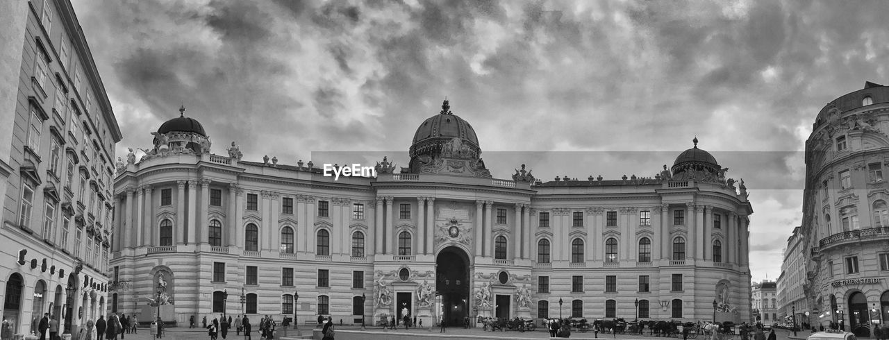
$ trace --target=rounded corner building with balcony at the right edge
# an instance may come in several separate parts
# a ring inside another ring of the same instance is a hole
[[[889,87],[865,83],[821,109],[805,142],[810,323],[889,318]]]

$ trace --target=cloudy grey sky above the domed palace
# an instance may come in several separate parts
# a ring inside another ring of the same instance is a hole
[[[800,223],[815,115],[885,83],[889,55],[881,1],[72,2],[119,155],[182,104],[216,154],[406,165],[446,96],[497,178],[653,176],[697,136],[751,192],[754,281]]]

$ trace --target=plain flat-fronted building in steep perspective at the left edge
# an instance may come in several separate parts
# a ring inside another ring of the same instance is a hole
[[[121,131],[68,0],[0,2],[0,32],[3,331],[76,333],[108,303]]]

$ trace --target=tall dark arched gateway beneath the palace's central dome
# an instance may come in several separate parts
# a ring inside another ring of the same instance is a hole
[[[436,257],[436,291],[441,296],[438,317],[448,326],[461,326],[469,316],[469,255],[457,247]]]

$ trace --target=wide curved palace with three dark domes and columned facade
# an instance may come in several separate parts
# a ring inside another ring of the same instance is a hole
[[[154,310],[134,297],[154,294],[159,275],[174,301],[162,317],[178,322],[223,311],[295,313],[303,325],[404,313],[425,326],[637,312],[749,320],[746,188],[696,139],[654,178],[542,182],[522,165],[499,179],[445,100],[416,130],[407,167],[384,158],[376,178],[334,181],[312,162],[243,161],[234,143],[212,154],[185,115],[153,134],[148,155],[117,172],[110,261],[131,282],[111,308],[140,320]]]

